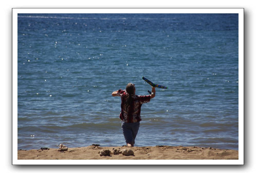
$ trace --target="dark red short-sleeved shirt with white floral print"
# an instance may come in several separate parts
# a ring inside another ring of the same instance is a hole
[[[125,96],[127,95],[126,90],[119,89],[117,92],[117,96],[121,97],[121,112],[120,112],[120,119],[126,123],[136,123],[141,121],[140,117],[140,110],[143,103],[150,102],[150,95],[147,96],[138,96],[133,94],[132,95],[132,105],[128,107],[127,110],[124,110],[124,106],[126,103]]]

